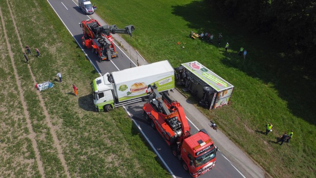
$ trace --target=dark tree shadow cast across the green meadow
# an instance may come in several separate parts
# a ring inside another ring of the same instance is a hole
[[[316,95],[311,92],[316,87],[313,70],[303,67],[294,57],[287,56],[280,47],[282,45],[270,42],[269,37],[246,33],[245,28],[232,19],[223,18],[224,14],[205,1],[193,1],[172,8],[172,13],[187,21],[189,28],[198,29],[197,33],[214,34],[213,45],[219,47],[219,53],[225,56],[221,59],[222,64],[237,68],[265,84],[273,84],[273,88],[278,90],[278,96],[287,102],[292,114],[316,125]],[[221,45],[217,45],[219,32],[223,34]],[[226,42],[230,44],[227,53],[224,52]],[[236,53],[241,46],[248,51],[245,61]]]

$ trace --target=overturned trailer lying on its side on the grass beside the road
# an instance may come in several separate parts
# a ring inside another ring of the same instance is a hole
[[[209,110],[227,105],[234,86],[197,61],[181,64],[176,70],[176,84],[184,86],[198,99],[199,105]]]

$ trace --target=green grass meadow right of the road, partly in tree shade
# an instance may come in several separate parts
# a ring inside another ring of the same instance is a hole
[[[168,59],[177,67],[197,60],[234,85],[230,106],[200,110],[271,176],[315,177],[316,96],[312,90],[316,77],[312,71],[288,59],[267,37],[245,33],[202,0],[117,0],[110,7],[94,1],[98,15],[109,24],[135,25],[133,38],[122,37],[150,62]],[[214,44],[190,39],[191,30],[213,33]],[[221,45],[216,43],[219,32]],[[230,44],[227,53],[226,42]],[[246,60],[237,55],[241,46],[248,51]],[[267,122],[272,122],[274,131],[264,136]],[[291,129],[294,136],[289,144],[275,144]]]

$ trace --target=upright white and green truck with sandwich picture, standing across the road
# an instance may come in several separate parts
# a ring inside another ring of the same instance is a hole
[[[175,88],[175,71],[167,60],[108,72],[91,83],[96,110],[147,101],[154,84],[159,92]]]

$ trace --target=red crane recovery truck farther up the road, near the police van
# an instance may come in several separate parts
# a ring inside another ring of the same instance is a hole
[[[135,29],[133,25],[125,26],[124,29],[119,29],[116,25],[101,26],[94,19],[82,21],[80,27],[83,31],[82,45],[85,48],[92,48],[92,52],[99,56],[99,62],[119,57],[113,44],[111,33],[129,34],[132,36]]]

